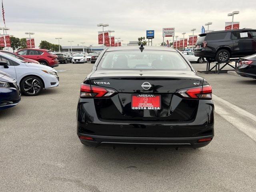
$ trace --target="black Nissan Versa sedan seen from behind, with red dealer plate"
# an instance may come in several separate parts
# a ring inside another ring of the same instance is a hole
[[[212,88],[177,50],[111,47],[82,82],[77,134],[101,144],[203,147],[214,137]]]

